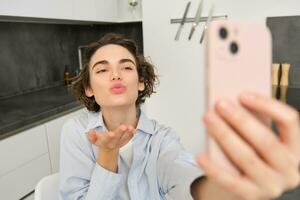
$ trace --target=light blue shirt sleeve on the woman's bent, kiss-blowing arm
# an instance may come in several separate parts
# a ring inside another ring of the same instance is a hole
[[[121,176],[95,162],[92,145],[86,134],[76,128],[74,120],[64,125],[60,148],[60,200],[116,199]]]

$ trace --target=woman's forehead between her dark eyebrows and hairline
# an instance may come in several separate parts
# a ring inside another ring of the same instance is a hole
[[[135,61],[134,56],[125,47],[116,44],[108,44],[100,47],[94,53],[91,58],[91,64],[100,60],[118,61],[124,58]]]

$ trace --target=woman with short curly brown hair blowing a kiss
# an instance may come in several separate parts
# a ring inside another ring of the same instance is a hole
[[[205,155],[198,167],[174,130],[147,118],[140,105],[155,82],[131,40],[107,34],[89,46],[74,87],[89,112],[62,130],[60,199],[271,199],[299,184],[294,110],[244,94],[243,107],[223,100],[205,115],[209,133],[242,172],[234,175]],[[274,119],[280,140],[247,110]]]

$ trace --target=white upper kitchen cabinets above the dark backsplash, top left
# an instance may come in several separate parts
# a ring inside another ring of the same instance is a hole
[[[131,9],[128,0],[2,0],[0,15],[92,22],[141,21],[141,0]]]

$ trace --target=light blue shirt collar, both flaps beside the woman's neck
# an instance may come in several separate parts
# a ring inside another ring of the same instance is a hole
[[[154,123],[152,120],[150,120],[140,108],[137,109],[137,115],[139,116],[139,121],[136,129],[152,135],[154,133]],[[88,112],[88,124],[85,132],[88,133],[90,129],[102,129],[102,131],[107,130],[103,122],[101,111]]]

